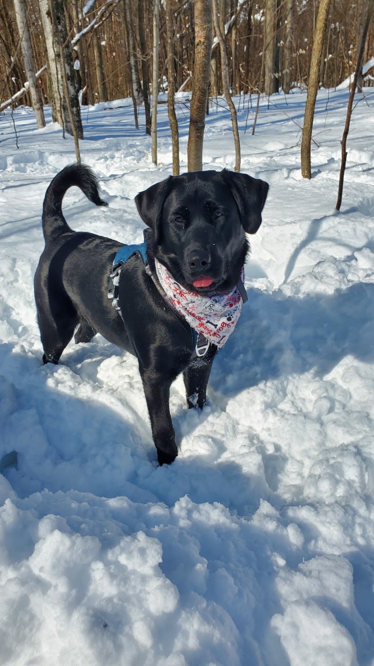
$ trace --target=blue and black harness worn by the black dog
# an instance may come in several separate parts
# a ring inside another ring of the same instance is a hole
[[[144,268],[146,269],[147,274],[153,280],[152,273],[149,270],[148,258],[146,255],[146,241],[144,240],[144,242],[138,245],[122,245],[122,247],[118,250],[116,256],[114,257],[112,272],[110,273],[109,276],[108,298],[112,300],[112,306],[114,310],[118,312],[123,322],[124,319],[122,317],[122,312],[120,309],[119,298],[118,298],[120,272],[124,264],[126,264],[126,261],[128,261],[130,257],[134,256],[134,254],[137,254],[140,257],[144,265]],[[155,282],[155,280],[153,281],[154,284],[156,284],[158,291],[162,293],[161,286],[159,286]],[[194,342],[194,353],[192,355],[192,358],[196,357],[201,358],[202,356],[205,356],[206,352],[208,352],[208,349],[210,347],[210,342],[209,340],[206,339],[206,337],[202,333],[198,333],[196,330],[194,330],[194,328],[191,328],[191,331],[192,331],[192,340]]]

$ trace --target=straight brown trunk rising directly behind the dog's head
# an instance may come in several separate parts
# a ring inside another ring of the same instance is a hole
[[[210,55],[212,51],[212,0],[195,0],[194,22],[194,72],[192,75],[187,163],[188,171],[201,171],[205,111],[209,91]]]

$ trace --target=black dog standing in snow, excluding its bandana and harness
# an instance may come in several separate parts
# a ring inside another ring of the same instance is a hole
[[[150,227],[147,264],[135,252],[121,266],[116,294],[120,314],[108,299],[108,275],[121,244],[71,230],[61,204],[73,185],[97,206],[106,205],[87,166],[67,166],[47,189],[45,250],[35,274],[43,361],[57,363],[74,332],[75,342],[89,342],[99,331],[135,354],[158,462],[171,463],[178,450],[170,385],[183,372],[188,406],[201,408],[217,346],[208,344],[204,356],[194,354],[192,327],[166,299],[155,260],[182,289],[206,298],[230,292],[240,283],[249,249],[246,232],[254,234],[261,224],[268,184],[226,170],[205,171],[170,176],[137,194],[138,212]]]

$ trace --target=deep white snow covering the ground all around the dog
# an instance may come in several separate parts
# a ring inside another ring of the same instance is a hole
[[[270,183],[249,302],[206,408],[188,410],[182,380],[172,386],[180,454],[162,468],[132,356],[96,336],[41,365],[41,204],[75,160],[73,140],[48,110],[38,131],[21,108],[17,149],[1,115],[2,666],[374,665],[373,89],[365,95],[339,214],[347,91],[319,94],[311,180],[299,170],[305,95],[262,101],[255,136],[255,99],[249,111],[236,99],[242,170]],[[83,109],[83,161],[109,207],[70,190],[73,228],[142,240],[134,196],[171,172],[166,105],[158,118],[155,167],[142,111],[136,131],[131,107]],[[185,99],[178,118],[183,171]],[[219,101],[204,168],[233,165]]]

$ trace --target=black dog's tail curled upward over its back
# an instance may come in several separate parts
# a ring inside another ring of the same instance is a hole
[[[73,185],[81,188],[82,192],[96,206],[107,206],[98,194],[98,182],[93,171],[85,165],[65,166],[49,185],[43,202],[43,234],[45,240],[57,238],[60,234],[69,231],[70,227],[63,216],[63,197],[65,192]]]

